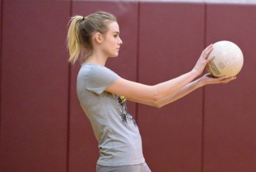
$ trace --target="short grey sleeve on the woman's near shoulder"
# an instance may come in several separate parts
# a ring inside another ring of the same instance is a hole
[[[87,75],[86,87],[87,90],[95,92],[95,94],[102,94],[118,78],[120,77],[107,67],[96,66]]]

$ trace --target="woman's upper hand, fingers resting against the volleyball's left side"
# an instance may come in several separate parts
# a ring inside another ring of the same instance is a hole
[[[207,59],[209,53],[212,50],[213,46],[212,44],[210,44],[207,48],[204,49],[204,51],[200,55],[200,58],[197,60],[195,67],[192,69],[192,71],[195,71],[197,75],[201,75],[207,63],[211,62],[211,60],[214,59],[214,56],[211,56]]]

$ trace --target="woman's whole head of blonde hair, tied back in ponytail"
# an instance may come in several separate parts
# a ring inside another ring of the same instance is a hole
[[[68,22],[68,62],[75,63],[77,59],[83,60],[83,53],[90,53],[93,50],[91,37],[93,33],[100,32],[105,34],[108,30],[110,21],[117,21],[113,14],[99,11],[91,13],[87,17],[74,16]]]

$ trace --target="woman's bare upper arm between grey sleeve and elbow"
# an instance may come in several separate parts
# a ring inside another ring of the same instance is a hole
[[[157,93],[153,86],[132,82],[124,78],[118,78],[107,87],[106,91],[148,105],[150,104],[149,101],[156,101],[157,99]]]

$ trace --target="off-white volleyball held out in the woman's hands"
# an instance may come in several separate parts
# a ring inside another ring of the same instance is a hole
[[[242,51],[231,41],[222,40],[213,44],[208,57],[215,56],[206,69],[215,77],[232,77],[239,74],[243,65]]]

